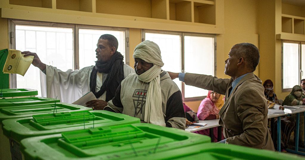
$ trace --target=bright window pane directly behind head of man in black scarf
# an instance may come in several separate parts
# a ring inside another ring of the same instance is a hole
[[[125,55],[125,32],[118,30],[93,30],[93,29],[79,29],[79,69],[87,66],[94,66],[96,59],[96,44],[99,37],[103,34],[111,34],[117,38],[119,46],[117,51],[124,56],[124,62],[126,62]]]

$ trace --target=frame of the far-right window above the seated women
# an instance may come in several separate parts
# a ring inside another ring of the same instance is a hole
[[[298,60],[298,63],[299,63],[299,81],[298,81],[298,83],[300,82],[300,80],[301,80],[301,74],[302,74],[302,57],[301,57],[301,54],[302,54],[302,52],[301,52],[301,49],[302,49],[302,47],[301,47],[301,44],[305,44],[305,42],[303,42],[303,41],[289,41],[289,40],[282,40],[282,92],[291,92],[292,91],[292,88],[285,88],[284,89],[284,66],[283,66],[283,64],[284,64],[284,43],[295,43],[295,44],[299,44],[299,60]],[[300,84],[296,84],[296,85],[300,85]]]

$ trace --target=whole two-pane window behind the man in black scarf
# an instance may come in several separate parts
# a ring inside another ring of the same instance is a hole
[[[14,36],[10,48],[35,52],[42,62],[62,71],[95,65],[96,44],[102,34],[112,34],[118,39],[117,51],[128,63],[125,56],[128,32],[124,28],[11,20],[11,32]],[[46,96],[45,75],[37,67],[31,65],[24,76],[10,76],[12,88],[37,89],[38,96]]]

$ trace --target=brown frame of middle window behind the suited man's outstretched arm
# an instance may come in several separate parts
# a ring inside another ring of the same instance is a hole
[[[216,76],[216,69],[217,69],[217,61],[216,61],[216,49],[217,49],[217,43],[216,43],[216,34],[201,34],[201,33],[189,33],[189,32],[176,32],[176,31],[162,31],[162,30],[147,30],[142,29],[142,41],[145,41],[145,33],[157,33],[157,34],[174,34],[174,35],[180,35],[181,36],[181,42],[180,42],[180,50],[181,50],[181,60],[180,60],[180,66],[181,66],[181,73],[185,73],[185,62],[184,62],[184,36],[198,36],[198,37],[213,37],[214,38],[214,76]],[[190,97],[185,98],[185,83],[181,81],[181,93],[182,93],[182,100],[183,101],[199,101],[206,96],[200,96],[200,97]]]

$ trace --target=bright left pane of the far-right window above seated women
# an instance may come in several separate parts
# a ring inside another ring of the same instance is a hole
[[[299,44],[283,43],[283,89],[299,83]]]

